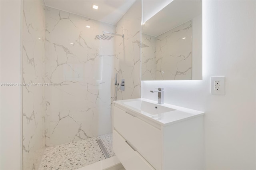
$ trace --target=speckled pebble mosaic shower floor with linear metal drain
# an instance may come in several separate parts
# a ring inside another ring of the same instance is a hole
[[[83,166],[104,160],[97,139],[101,139],[110,156],[112,150],[112,133],[47,147],[42,156],[39,170],[76,170]]]

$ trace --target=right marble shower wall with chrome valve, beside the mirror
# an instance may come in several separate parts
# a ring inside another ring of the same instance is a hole
[[[118,82],[125,79],[125,90],[118,89],[117,100],[136,99],[141,96],[140,79],[140,38],[141,38],[141,1],[136,1],[116,24],[115,72]],[[120,87],[120,86],[119,86]],[[114,91],[114,87],[112,87]]]

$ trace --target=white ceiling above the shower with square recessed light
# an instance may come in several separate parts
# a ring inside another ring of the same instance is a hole
[[[112,25],[122,18],[136,0],[44,0],[48,7],[56,8]],[[98,6],[98,10],[92,8]]]

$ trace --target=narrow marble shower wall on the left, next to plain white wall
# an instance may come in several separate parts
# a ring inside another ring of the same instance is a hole
[[[23,1],[23,169],[38,169],[45,146],[44,83],[45,6],[42,0]]]

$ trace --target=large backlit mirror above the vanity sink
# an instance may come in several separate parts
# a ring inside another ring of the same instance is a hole
[[[142,80],[202,79],[202,0],[143,0],[142,10]]]

